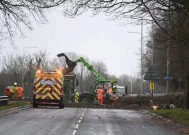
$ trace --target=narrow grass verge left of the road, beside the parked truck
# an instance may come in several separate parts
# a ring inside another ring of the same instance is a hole
[[[16,108],[16,107],[22,107],[26,105],[29,105],[29,103],[28,102],[11,102],[8,105],[0,106],[0,111],[8,110],[8,109]]]

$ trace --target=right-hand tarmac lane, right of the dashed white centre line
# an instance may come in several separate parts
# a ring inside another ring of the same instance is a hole
[[[178,135],[134,110],[87,109],[77,135]]]

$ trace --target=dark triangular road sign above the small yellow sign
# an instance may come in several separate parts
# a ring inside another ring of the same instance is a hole
[[[152,66],[150,66],[144,76],[144,80],[159,80],[159,79],[160,78],[157,71]]]

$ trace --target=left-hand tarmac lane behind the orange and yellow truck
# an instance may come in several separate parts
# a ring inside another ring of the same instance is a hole
[[[0,135],[71,135],[83,108],[29,108],[0,116]]]

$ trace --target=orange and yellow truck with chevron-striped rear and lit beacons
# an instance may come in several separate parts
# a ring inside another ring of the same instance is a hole
[[[33,107],[49,105],[64,108],[63,80],[61,70],[53,72],[37,70],[33,85]]]

